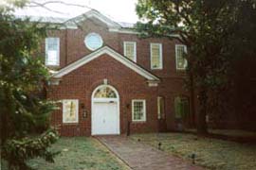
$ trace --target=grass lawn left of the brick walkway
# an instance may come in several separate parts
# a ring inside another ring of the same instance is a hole
[[[62,151],[55,163],[42,159],[28,161],[37,170],[126,170],[127,166],[119,161],[104,145],[94,138],[61,138],[51,148]]]

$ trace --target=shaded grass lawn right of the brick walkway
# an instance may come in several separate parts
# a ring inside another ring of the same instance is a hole
[[[137,134],[132,139],[190,160],[207,169],[256,170],[256,144],[238,144],[184,133]],[[139,139],[139,140],[138,140]]]

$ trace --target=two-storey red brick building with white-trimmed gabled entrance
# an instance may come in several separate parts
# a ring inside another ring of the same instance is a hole
[[[96,10],[59,23],[44,49],[54,70],[46,96],[60,101],[51,122],[62,135],[174,130],[191,116],[186,46],[139,39],[132,25]]]

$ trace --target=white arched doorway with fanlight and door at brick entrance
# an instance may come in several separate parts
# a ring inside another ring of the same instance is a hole
[[[119,93],[110,85],[101,85],[92,93],[91,134],[119,134]]]

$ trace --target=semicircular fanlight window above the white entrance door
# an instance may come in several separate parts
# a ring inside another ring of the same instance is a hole
[[[103,86],[96,91],[94,98],[118,98],[118,96],[112,88]]]

